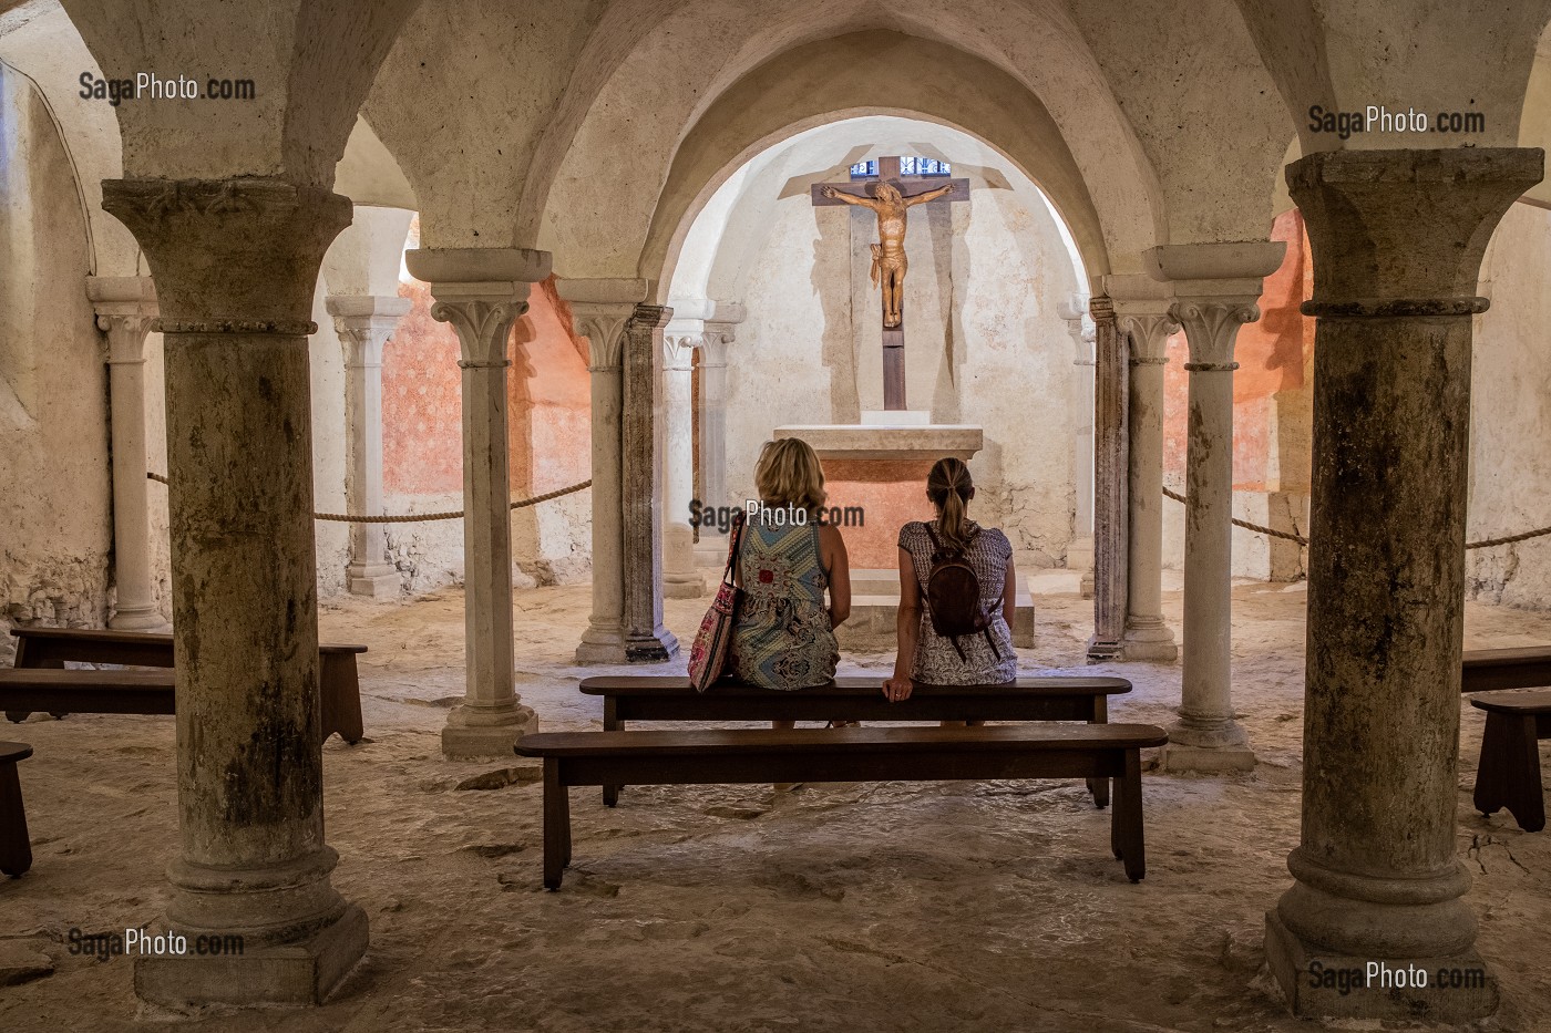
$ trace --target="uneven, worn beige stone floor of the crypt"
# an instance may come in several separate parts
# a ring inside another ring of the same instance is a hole
[[[549,729],[600,723],[566,662],[586,605],[586,586],[518,597],[520,689]],[[670,602],[668,625],[687,639],[703,605]],[[1304,593],[1244,583],[1235,606],[1236,703],[1261,766],[1148,776],[1140,886],[1078,785],[887,783],[631,789],[613,811],[579,789],[577,864],[546,893],[538,789],[437,751],[462,692],[461,593],[329,603],[326,637],[371,647],[371,741],[324,748],[335,884],[371,917],[366,962],[323,1008],[175,1016],[136,1002],[127,959],[71,955],[71,928],[121,931],[164,903],[172,721],[34,717],[5,731],[37,749],[22,768],[36,862],[0,881],[0,1030],[1318,1028],[1286,1017],[1259,973],[1298,834]],[[1177,628],[1177,593],[1166,608]],[[1041,597],[1024,667],[1115,670],[1137,690],[1114,720],[1166,721],[1179,669],[1083,667],[1089,614],[1075,594]],[[1472,605],[1467,627],[1470,645],[1551,642],[1551,614]],[[1480,734],[1464,706],[1459,856],[1506,993],[1481,1028],[1551,1030],[1551,833],[1470,808]]]

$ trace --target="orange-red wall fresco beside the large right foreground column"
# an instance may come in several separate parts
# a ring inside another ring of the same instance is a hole
[[[1306,490],[1304,428],[1309,422],[1306,378],[1312,369],[1314,320],[1298,307],[1314,285],[1303,216],[1276,217],[1272,240],[1284,240],[1281,267],[1261,288],[1261,318],[1239,327],[1233,374],[1233,487],[1252,492]],[[1171,481],[1185,475],[1190,349],[1185,335],[1168,341],[1163,368],[1163,468]],[[1280,451],[1273,456],[1273,450]]]

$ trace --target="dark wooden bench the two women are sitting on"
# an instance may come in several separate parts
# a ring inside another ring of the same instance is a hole
[[[1131,692],[1124,678],[1019,678],[1013,686],[917,686],[889,703],[883,678],[836,678],[828,686],[774,692],[721,682],[695,692],[682,675],[583,678],[603,696],[603,731],[627,721],[1089,721],[1109,720],[1109,696]],[[622,786],[603,786],[614,807]],[[1093,803],[1109,803],[1109,782],[1090,779]]]

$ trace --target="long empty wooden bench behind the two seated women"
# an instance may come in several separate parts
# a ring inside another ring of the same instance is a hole
[[[763,782],[1114,779],[1109,844],[1132,883],[1146,875],[1140,751],[1152,724],[1002,724],[695,732],[538,732],[516,741],[544,760],[544,886],[571,864],[571,786]]]

